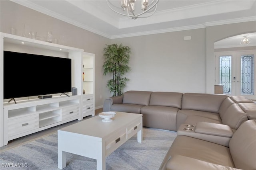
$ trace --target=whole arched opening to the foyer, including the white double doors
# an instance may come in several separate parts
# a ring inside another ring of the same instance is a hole
[[[244,36],[250,38],[250,44],[240,44]],[[217,41],[214,49],[215,83],[223,85],[224,94],[256,100],[256,33]]]

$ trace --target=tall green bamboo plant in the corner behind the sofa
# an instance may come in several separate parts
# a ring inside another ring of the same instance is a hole
[[[121,96],[122,90],[129,81],[124,75],[130,71],[128,63],[130,61],[131,49],[120,44],[106,45],[104,48],[105,62],[103,64],[103,75],[111,73],[112,79],[108,80],[107,87],[113,96]]]

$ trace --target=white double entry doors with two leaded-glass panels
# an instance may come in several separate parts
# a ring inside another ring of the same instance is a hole
[[[223,93],[256,100],[256,50],[216,52],[215,57],[215,82],[223,85]]]

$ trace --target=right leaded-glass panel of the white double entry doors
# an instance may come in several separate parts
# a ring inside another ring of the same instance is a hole
[[[241,94],[254,95],[254,55],[241,55]]]

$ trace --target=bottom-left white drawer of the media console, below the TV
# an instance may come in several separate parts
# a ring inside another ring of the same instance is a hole
[[[38,114],[8,120],[8,137],[39,128]]]

